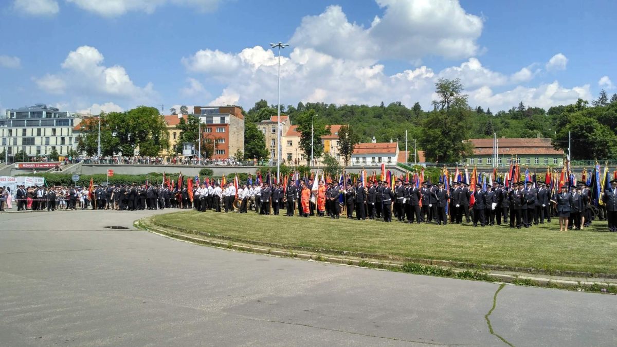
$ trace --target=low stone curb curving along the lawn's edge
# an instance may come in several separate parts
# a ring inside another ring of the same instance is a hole
[[[190,236],[190,235],[186,235],[183,233],[170,232],[168,230],[152,227],[151,225],[144,225],[144,220],[137,220],[134,225],[136,228],[139,228],[141,230],[146,230],[147,232],[151,232],[156,235],[165,236],[168,238],[173,238],[175,240],[180,240],[180,241],[184,241],[188,243],[194,243],[197,245],[213,246],[215,248],[231,249],[231,250],[242,251],[246,253],[265,254],[265,255],[276,256],[276,257],[291,257],[291,258],[304,259],[304,260],[309,260],[309,261],[328,262],[328,263],[339,264],[339,265],[351,265],[355,267],[379,269],[379,270],[392,270],[392,271],[400,271],[400,272],[414,274],[413,272],[404,271],[403,264],[394,264],[394,263],[379,262],[379,261],[364,261],[364,260],[348,259],[348,258],[342,258],[342,257],[320,256],[317,254],[309,254],[309,253],[294,253],[293,251],[280,251],[276,249],[239,245],[239,244],[234,244],[231,242],[225,243],[222,241],[207,240],[205,238],[200,238],[197,236]],[[445,267],[442,267],[442,266],[435,266],[435,267],[438,267],[440,269],[445,269]],[[460,274],[463,272],[469,272],[469,270],[452,269],[453,274]],[[492,272],[480,272],[480,273],[486,275],[487,277],[494,279],[494,280],[486,280],[486,282],[511,283],[511,284],[522,285],[522,286],[542,286],[542,287],[547,287],[547,288],[560,288],[560,289],[577,288],[578,291],[585,291],[585,288],[590,288],[592,290],[599,290],[600,288],[609,288],[609,287],[617,288],[617,283],[612,283],[612,282],[573,281],[573,280],[565,280],[565,279],[558,279],[558,278],[497,274],[497,273],[492,273]],[[419,274],[419,275],[427,275],[427,274]],[[444,276],[441,276],[441,277],[444,277]],[[447,278],[457,278],[457,277],[447,277]],[[463,279],[473,280],[473,278],[463,278]],[[605,279],[598,278],[598,280],[603,281]]]

